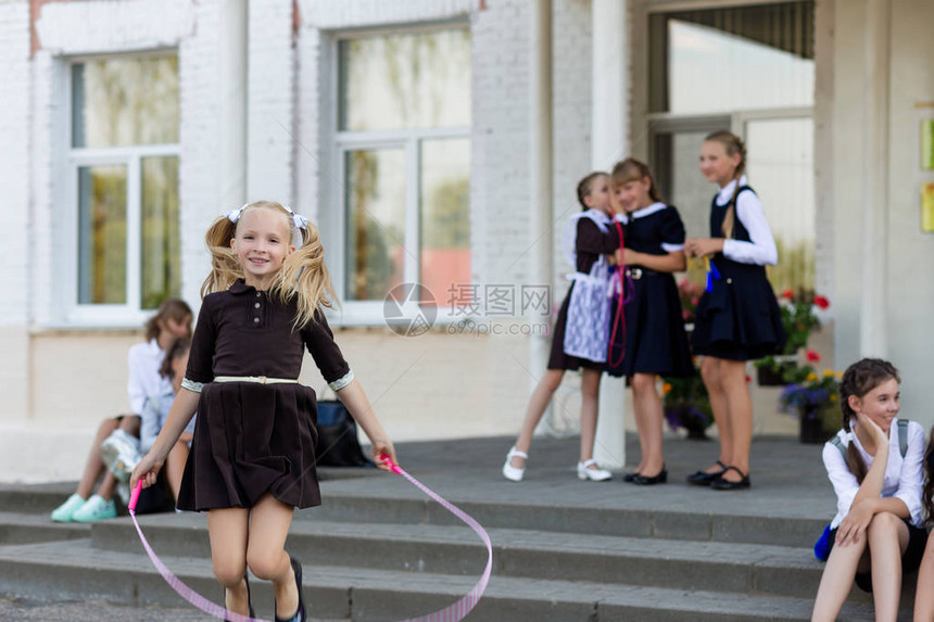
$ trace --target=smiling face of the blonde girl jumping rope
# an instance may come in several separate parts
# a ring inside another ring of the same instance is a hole
[[[268,289],[286,257],[295,250],[288,216],[266,207],[244,211],[230,249],[243,268],[245,283],[257,290]]]

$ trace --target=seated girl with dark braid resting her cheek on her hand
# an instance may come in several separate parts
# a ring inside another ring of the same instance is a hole
[[[901,574],[921,561],[924,430],[896,418],[898,383],[898,370],[878,358],[843,375],[843,429],[823,447],[837,512],[812,621],[836,620],[856,579],[873,593],[875,619],[895,622]]]

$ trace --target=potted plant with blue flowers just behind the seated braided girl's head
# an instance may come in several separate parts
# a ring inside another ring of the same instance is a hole
[[[819,360],[819,358],[818,358]],[[798,368],[779,395],[784,412],[798,417],[802,443],[824,443],[840,427],[840,373],[810,365]]]

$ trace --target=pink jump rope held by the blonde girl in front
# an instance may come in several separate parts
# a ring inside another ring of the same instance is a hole
[[[450,607],[445,607],[439,611],[434,611],[433,613],[428,613],[427,615],[422,615],[420,618],[409,618],[403,622],[458,622],[463,620],[474,607],[477,606],[477,602],[480,601],[480,597],[483,596],[483,592],[487,591],[487,584],[490,582],[490,572],[493,569],[493,544],[490,542],[490,536],[487,534],[487,530],[474,520],[469,515],[467,515],[464,510],[436,494],[433,491],[428,488],[425,484],[406,473],[402,467],[395,465],[389,460],[388,456],[381,456],[381,460],[384,464],[389,464],[390,470],[393,473],[397,473],[412,482],[415,486],[421,490],[426,495],[441,504],[444,509],[456,516],[458,519],[464,521],[467,526],[472,529],[477,535],[480,536],[480,540],[483,541],[483,544],[487,545],[487,568],[483,570],[483,574],[480,576],[480,581],[474,585],[474,588],[470,589],[467,594],[465,594],[457,602],[451,605]],[[140,480],[136,488],[132,491],[132,495],[129,499],[129,516],[132,519],[132,524],[136,525],[136,532],[139,534],[139,540],[142,542],[143,548],[146,548],[147,555],[149,555],[149,559],[152,560],[152,564],[159,570],[159,573],[165,580],[168,585],[175,589],[175,592],[188,600],[191,605],[201,609],[209,615],[213,615],[214,618],[219,618],[222,620],[230,620],[230,622],[266,622],[258,618],[250,618],[249,615],[241,615],[239,613],[234,613],[232,611],[227,611],[224,607],[207,600],[190,587],[188,587],[185,583],[181,582],[168,568],[159,559],[159,556],[152,550],[152,547],[149,544],[149,541],[146,540],[146,536],[142,535],[142,530],[139,526],[139,523],[136,520],[136,504],[139,499],[139,493],[142,491],[142,480]]]

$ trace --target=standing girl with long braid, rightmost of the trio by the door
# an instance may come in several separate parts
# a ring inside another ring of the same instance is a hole
[[[780,352],[785,342],[766,266],[779,258],[759,198],[747,185],[740,137],[715,131],[700,147],[700,172],[719,186],[710,205],[710,237],[685,241],[689,257],[707,262],[692,346],[720,436],[720,457],[689,483],[720,491],[749,487],[753,402],[746,361]]]

